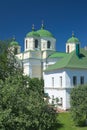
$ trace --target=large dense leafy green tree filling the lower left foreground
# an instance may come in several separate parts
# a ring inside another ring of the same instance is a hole
[[[43,82],[23,75],[0,80],[0,130],[49,130],[56,113],[43,100]]]

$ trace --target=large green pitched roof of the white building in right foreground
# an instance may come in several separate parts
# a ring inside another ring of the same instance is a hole
[[[63,59],[56,62],[54,65],[50,65],[46,71],[52,71],[63,68],[72,68],[72,69],[87,69],[87,51],[80,49],[79,56],[76,55],[76,52],[73,51],[66,55]]]

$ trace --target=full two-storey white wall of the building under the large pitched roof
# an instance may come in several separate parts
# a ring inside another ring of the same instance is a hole
[[[62,76],[62,86],[60,86],[60,76]],[[80,77],[84,76],[84,84],[87,84],[87,70],[84,69],[61,69],[44,73],[44,91],[51,97],[63,98],[62,109],[70,108],[70,91],[73,86],[73,76],[77,77],[77,84],[80,84]],[[54,86],[52,78],[54,77]]]

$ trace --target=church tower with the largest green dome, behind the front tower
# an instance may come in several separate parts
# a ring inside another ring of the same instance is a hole
[[[52,54],[55,49],[56,39],[51,32],[45,29],[42,23],[41,29],[37,30],[40,35],[40,45],[42,52],[42,59],[46,59],[50,54]]]

